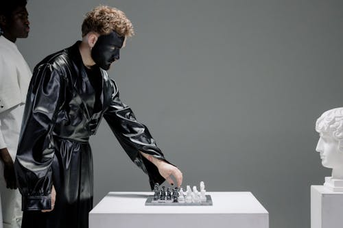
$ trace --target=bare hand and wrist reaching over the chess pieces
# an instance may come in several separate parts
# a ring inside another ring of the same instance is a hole
[[[176,179],[178,187],[181,186],[182,173],[176,166],[173,166],[163,160],[159,160],[158,158],[150,154],[143,153],[142,151],[139,152],[141,153],[141,155],[143,155],[147,160],[152,162],[152,164],[154,164],[158,168],[158,172],[161,174],[162,177],[164,177],[168,181],[168,183],[174,186],[174,181],[173,179],[171,179],[171,176],[173,176]]]

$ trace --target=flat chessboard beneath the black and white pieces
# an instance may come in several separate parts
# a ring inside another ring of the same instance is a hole
[[[145,206],[212,206],[212,198],[209,194],[206,194],[205,202],[186,202],[186,201],[167,201],[167,200],[155,200],[154,196],[147,197],[145,201]]]

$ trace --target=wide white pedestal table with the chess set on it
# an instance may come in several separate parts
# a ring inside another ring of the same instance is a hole
[[[251,192],[206,192],[212,206],[145,206],[152,192],[109,192],[89,213],[89,228],[268,228],[267,210]]]

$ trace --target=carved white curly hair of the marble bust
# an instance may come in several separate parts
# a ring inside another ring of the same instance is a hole
[[[324,112],[316,121],[316,131],[338,140],[338,148],[343,151],[343,107]]]

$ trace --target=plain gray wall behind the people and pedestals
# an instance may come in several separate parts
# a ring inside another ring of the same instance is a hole
[[[343,1],[31,0],[30,35],[17,42],[29,65],[80,39],[101,3],[126,12],[137,34],[110,77],[184,185],[251,191],[270,227],[309,227],[310,185],[330,175],[314,124],[343,102]],[[150,190],[105,121],[91,145],[95,204]]]

